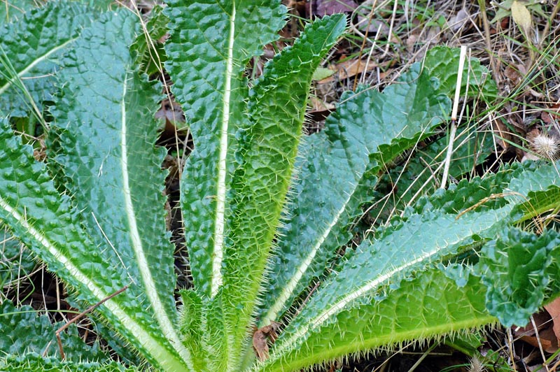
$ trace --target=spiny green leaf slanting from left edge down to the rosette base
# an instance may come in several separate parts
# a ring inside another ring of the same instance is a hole
[[[80,299],[97,303],[120,289],[122,281],[112,280],[120,277],[118,268],[110,264],[114,260],[106,260],[104,250],[92,243],[69,197],[57,192],[44,164],[35,162],[32,149],[13,136],[6,120],[0,121],[0,158],[1,222],[9,224],[51,271],[78,290]],[[135,296],[134,306],[128,301],[129,308],[138,307]],[[151,330],[141,327],[137,314],[123,310],[122,303],[109,299],[98,309],[137,348],[151,350],[146,355],[153,352],[162,360],[171,358]]]

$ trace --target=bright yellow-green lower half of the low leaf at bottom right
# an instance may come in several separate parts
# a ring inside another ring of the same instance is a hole
[[[476,276],[470,277],[468,285],[458,287],[442,271],[431,269],[402,282],[382,300],[370,296],[345,308],[328,324],[311,324],[301,348],[278,344],[280,338],[270,359],[255,371],[297,371],[351,352],[494,323],[496,318],[484,308],[484,290]]]

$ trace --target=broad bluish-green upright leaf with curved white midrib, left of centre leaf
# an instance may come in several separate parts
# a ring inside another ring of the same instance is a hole
[[[53,157],[99,256],[118,272],[106,280],[130,285],[116,301],[159,339],[150,348],[173,355],[163,358],[148,350],[151,362],[195,369],[176,330],[174,247],[165,231],[160,169],[165,150],[154,145],[153,112],[160,94],[157,85],[134,72],[128,49],[139,30],[133,13],[107,13],[64,59],[63,95],[52,110],[59,143]]]

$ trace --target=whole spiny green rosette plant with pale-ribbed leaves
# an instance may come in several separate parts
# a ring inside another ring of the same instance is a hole
[[[351,245],[384,164],[444,124],[457,50],[430,50],[383,92],[344,94],[304,136],[311,77],[344,16],[308,24],[252,80],[248,62],[285,23],[280,1],[168,0],[153,14],[150,29],[129,10],[66,1],[3,15],[0,221],[68,301],[105,300],[90,316],[120,355],[70,327],[61,360],[60,324],[4,300],[3,370],[297,371],[521,324],[559,292],[559,234],[521,229],[557,203],[557,164],[462,180]],[[141,64],[153,30],[169,31],[159,55],[194,141],[180,201],[193,286],[179,292],[155,146],[162,87]],[[463,91],[490,96],[486,69],[469,66]],[[44,162],[13,131],[22,117],[44,126]]]

